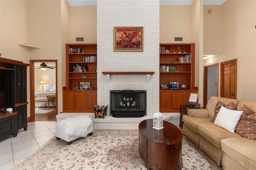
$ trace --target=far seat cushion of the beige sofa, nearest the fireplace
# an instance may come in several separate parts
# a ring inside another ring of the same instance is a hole
[[[196,133],[198,133],[198,125],[202,123],[213,124],[211,122],[211,119],[212,118],[210,117],[189,117],[188,115],[183,115],[182,117],[183,123],[190,127]]]

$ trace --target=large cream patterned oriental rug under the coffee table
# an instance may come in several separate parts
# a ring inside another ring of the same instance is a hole
[[[138,130],[94,130],[70,145],[52,138],[12,170],[146,170],[138,142]],[[186,136],[182,161],[182,170],[222,170]]]

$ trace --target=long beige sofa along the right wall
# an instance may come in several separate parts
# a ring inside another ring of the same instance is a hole
[[[246,105],[256,112],[256,102],[211,97],[206,109],[189,109],[188,115],[183,115],[183,134],[204,150],[218,166],[222,165],[224,170],[256,169],[256,140],[242,137],[212,123],[217,101],[226,105],[233,101],[238,110]]]

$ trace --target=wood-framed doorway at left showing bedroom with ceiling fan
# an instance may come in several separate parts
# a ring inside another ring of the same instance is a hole
[[[57,60],[30,60],[30,121],[56,121],[58,114]],[[47,95],[54,95],[47,102]],[[43,97],[35,101],[35,97]],[[49,106],[49,107],[48,107]],[[37,112],[37,114],[35,114]]]

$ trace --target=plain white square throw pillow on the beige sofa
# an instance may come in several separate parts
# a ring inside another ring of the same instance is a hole
[[[242,113],[243,111],[229,110],[222,106],[215,119],[214,125],[218,125],[234,133]]]

